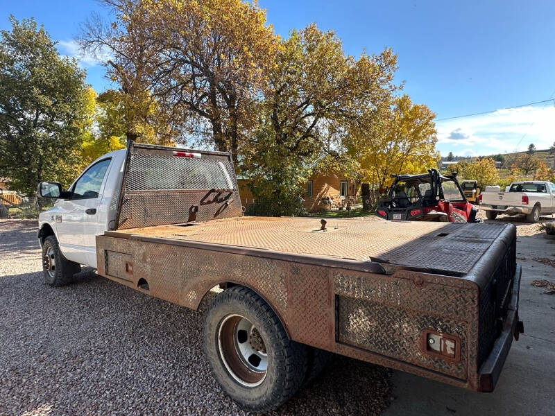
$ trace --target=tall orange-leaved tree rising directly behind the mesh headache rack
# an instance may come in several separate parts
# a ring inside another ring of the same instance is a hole
[[[253,131],[278,44],[264,11],[241,0],[103,2],[116,20],[89,21],[82,44],[114,55],[108,73],[126,96],[128,119],[144,118],[155,100],[171,125],[169,136],[185,132],[236,157],[239,142]],[[133,109],[136,98],[146,108]]]

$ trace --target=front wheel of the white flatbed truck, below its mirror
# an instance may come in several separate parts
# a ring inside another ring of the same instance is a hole
[[[74,274],[80,272],[81,266],[69,261],[60,251],[55,236],[48,236],[42,243],[42,272],[44,281],[50,286],[64,286],[71,283]]]

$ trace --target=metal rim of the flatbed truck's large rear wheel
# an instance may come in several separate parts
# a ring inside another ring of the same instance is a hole
[[[256,387],[268,372],[266,345],[255,325],[241,315],[228,315],[218,328],[218,349],[223,365],[239,384]]]

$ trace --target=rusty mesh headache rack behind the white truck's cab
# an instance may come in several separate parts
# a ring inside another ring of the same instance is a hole
[[[128,141],[113,229],[243,215],[230,153]]]

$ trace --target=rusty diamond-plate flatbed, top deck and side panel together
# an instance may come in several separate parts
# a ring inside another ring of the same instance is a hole
[[[491,275],[511,225],[319,226],[320,218],[241,217],[106,232],[96,239],[99,274],[140,291],[146,279],[146,293],[194,309],[213,286],[242,284],[264,297],[293,340],[479,390],[476,277]],[[458,337],[460,359],[429,356],[429,330]]]

